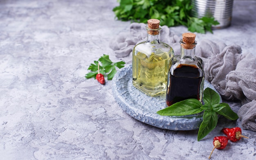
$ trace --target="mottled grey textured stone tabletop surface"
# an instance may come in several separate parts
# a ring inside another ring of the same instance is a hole
[[[222,127],[220,118],[198,142],[197,130],[171,131],[128,116],[112,96],[111,81],[85,79],[101,55],[118,59],[110,40],[128,32],[115,20],[116,0],[0,1],[0,155],[2,160],[170,160],[208,158]],[[256,0],[235,0],[229,28],[198,34],[238,44],[256,55]],[[171,31],[181,35],[183,26]],[[230,102],[235,103],[235,102]],[[240,107],[235,103],[235,109]],[[253,160],[256,134],[215,150],[213,160]]]

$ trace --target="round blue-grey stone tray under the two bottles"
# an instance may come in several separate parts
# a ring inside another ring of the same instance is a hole
[[[204,88],[216,89],[208,82]],[[156,112],[166,107],[165,94],[147,96],[132,85],[132,66],[121,68],[112,79],[112,92],[120,107],[143,123],[170,130],[194,130],[202,123],[202,113],[188,116],[160,116]],[[217,91],[216,91],[217,92]]]

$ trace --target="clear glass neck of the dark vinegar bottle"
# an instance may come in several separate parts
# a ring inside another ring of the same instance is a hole
[[[191,59],[195,58],[195,45],[196,41],[193,44],[186,44],[182,40],[180,40],[180,57],[184,59],[185,57],[191,57]]]

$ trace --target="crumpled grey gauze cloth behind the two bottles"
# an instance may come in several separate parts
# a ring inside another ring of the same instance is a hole
[[[130,24],[130,32],[120,33],[110,42],[116,57],[126,57],[133,47],[145,41],[144,23]],[[175,55],[180,53],[180,39],[162,26],[160,40],[169,44]],[[205,79],[220,93],[223,99],[240,100],[238,116],[244,129],[256,131],[256,57],[242,53],[238,45],[227,46],[223,42],[202,40],[196,46],[196,56],[204,61]]]

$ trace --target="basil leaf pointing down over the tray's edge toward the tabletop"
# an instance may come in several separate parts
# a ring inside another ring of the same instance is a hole
[[[198,130],[198,141],[209,134],[216,127],[217,123],[218,115],[216,112],[204,111],[203,121]]]

